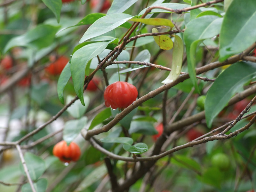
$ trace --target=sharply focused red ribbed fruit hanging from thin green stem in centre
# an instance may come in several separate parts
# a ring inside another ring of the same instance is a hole
[[[127,108],[136,100],[138,91],[136,87],[130,83],[117,81],[108,85],[104,91],[104,99],[106,107]]]

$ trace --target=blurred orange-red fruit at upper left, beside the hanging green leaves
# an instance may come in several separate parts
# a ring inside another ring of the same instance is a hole
[[[69,59],[67,57],[61,56],[56,61],[52,62],[49,66],[47,66],[45,71],[51,75],[60,75],[68,61]]]

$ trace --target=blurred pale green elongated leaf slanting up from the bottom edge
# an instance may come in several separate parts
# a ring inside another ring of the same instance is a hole
[[[91,186],[96,181],[100,180],[107,173],[105,165],[95,168],[90,174],[88,174],[80,185],[74,190],[74,192],[84,191],[87,187]]]

